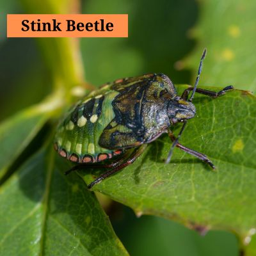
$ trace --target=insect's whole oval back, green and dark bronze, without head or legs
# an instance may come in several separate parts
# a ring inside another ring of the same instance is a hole
[[[168,92],[166,99],[163,92]],[[54,147],[70,161],[95,163],[148,143],[170,125],[168,115],[161,111],[166,111],[166,102],[175,94],[172,82],[163,74],[106,84],[67,113],[58,126]]]

